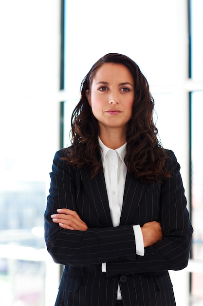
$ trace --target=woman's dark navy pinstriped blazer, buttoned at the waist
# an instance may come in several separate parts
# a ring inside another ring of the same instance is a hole
[[[188,262],[192,227],[180,166],[167,151],[174,174],[143,184],[127,173],[120,226],[113,227],[104,174],[90,178],[55,154],[45,211],[45,240],[54,261],[65,265],[55,306],[115,306],[118,283],[124,306],[175,306],[168,270]],[[75,210],[89,229],[61,229],[51,215],[58,208]],[[132,225],[161,222],[163,240],[136,255]],[[101,263],[107,262],[107,272]]]

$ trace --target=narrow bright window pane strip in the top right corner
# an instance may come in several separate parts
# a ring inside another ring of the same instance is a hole
[[[203,80],[203,1],[191,0],[192,78]]]

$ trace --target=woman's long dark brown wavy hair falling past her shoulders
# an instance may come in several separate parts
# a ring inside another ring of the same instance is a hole
[[[137,64],[129,57],[109,53],[100,58],[81,83],[81,98],[71,119],[72,146],[67,148],[66,159],[77,168],[91,170],[92,177],[98,174],[102,164],[99,154],[99,126],[92,114],[86,97],[91,90],[92,79],[99,67],[106,63],[126,66],[134,80],[134,102],[128,123],[125,163],[129,173],[148,183],[170,176],[166,168],[166,151],[157,138],[158,130],[153,122],[154,100],[149,92],[148,81]]]

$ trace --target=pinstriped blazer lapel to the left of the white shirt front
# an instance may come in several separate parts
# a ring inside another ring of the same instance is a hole
[[[90,198],[92,207],[96,211],[101,223],[104,227],[112,227],[113,224],[103,170],[101,169],[99,174],[91,179],[90,172],[87,169],[81,168],[81,179]]]

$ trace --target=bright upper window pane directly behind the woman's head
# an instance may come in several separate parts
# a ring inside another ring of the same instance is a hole
[[[150,85],[174,84],[177,21],[176,0],[66,0],[65,89],[78,93],[94,62],[111,52],[131,57]]]

